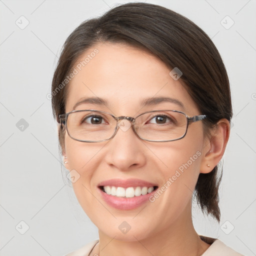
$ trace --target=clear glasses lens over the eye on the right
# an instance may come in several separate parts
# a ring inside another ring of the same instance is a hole
[[[153,141],[181,138],[186,132],[187,120],[183,113],[175,111],[155,111],[136,118],[135,129],[143,138]]]

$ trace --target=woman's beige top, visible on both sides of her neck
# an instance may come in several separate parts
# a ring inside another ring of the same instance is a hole
[[[208,249],[205,250],[201,256],[219,256],[219,255],[221,255],[221,256],[243,256],[242,254],[234,251],[233,249],[231,249],[230,247],[225,245],[219,239],[206,237],[206,236],[202,236],[202,235],[200,235],[200,238],[203,241],[211,244],[208,247]],[[91,250],[97,243],[98,243],[98,240],[91,241],[91,242],[87,243],[86,245],[84,245],[83,247],[66,254],[65,256],[89,256],[90,255],[89,253],[91,252]]]

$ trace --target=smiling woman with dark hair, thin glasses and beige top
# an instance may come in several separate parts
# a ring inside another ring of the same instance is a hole
[[[159,5],[114,7],[68,36],[51,94],[65,167],[99,234],[68,255],[241,255],[192,224],[193,191],[220,220],[232,117],[224,64],[198,26]]]

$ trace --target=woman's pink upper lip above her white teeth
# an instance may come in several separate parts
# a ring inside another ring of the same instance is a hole
[[[129,179],[119,179],[119,178],[112,178],[112,179],[107,179],[101,181],[98,186],[121,186],[121,187],[135,187],[135,186],[157,186],[154,183],[142,180],[142,179],[137,179],[137,178],[129,178]]]

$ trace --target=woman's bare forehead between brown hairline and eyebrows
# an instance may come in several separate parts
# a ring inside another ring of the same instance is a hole
[[[168,96],[181,101],[187,113],[196,109],[183,85],[169,75],[171,69],[143,49],[96,44],[80,56],[73,70],[76,74],[68,84],[66,112],[82,97],[100,97],[111,108],[133,112],[145,98]]]

